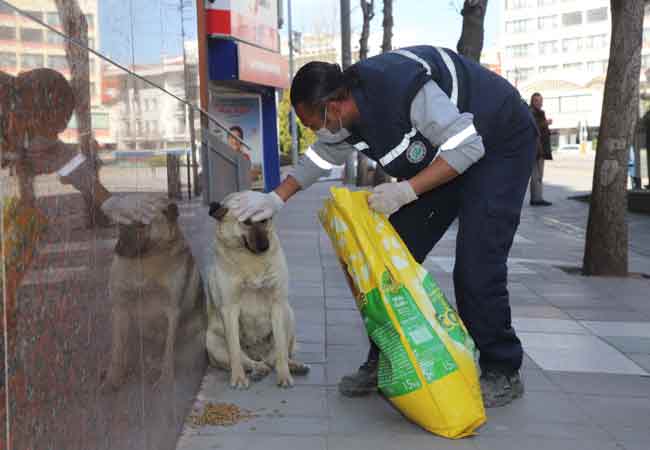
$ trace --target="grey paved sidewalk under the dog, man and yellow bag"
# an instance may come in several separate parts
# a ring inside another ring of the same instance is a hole
[[[557,182],[553,176],[550,181]],[[240,392],[228,387],[228,374],[210,369],[197,407],[206,401],[230,402],[258,416],[227,428],[188,425],[178,449],[646,450],[650,279],[590,279],[558,268],[579,266],[584,247],[587,205],[566,199],[575,193],[568,184],[547,186],[552,207],[530,208],[526,200],[509,287],[514,326],[527,353],[527,393],[510,406],[488,410],[478,436],[438,438],[409,423],[379,396],[347,399],[338,394],[339,378],[363,361],[367,338],[317,220],[316,211],[332,185],[320,183],[298,195],[277,220],[290,266],[298,358],[311,364],[310,375],[296,378],[297,386],[288,391],[275,387],[272,375]],[[206,223],[207,231],[197,233],[194,241],[209,238]],[[649,273],[650,217],[632,216],[630,224],[631,270]],[[452,302],[454,238],[452,229],[425,264]],[[201,245],[195,242],[195,248]]]

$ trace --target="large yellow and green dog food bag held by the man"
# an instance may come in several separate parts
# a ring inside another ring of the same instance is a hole
[[[448,438],[485,422],[476,348],[444,294],[367,192],[332,188],[320,220],[381,350],[379,389],[410,420]]]

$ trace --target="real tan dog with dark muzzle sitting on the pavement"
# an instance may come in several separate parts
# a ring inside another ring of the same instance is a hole
[[[281,387],[309,367],[293,361],[296,348],[289,275],[271,221],[239,222],[224,204],[212,203],[216,219],[216,264],[208,280],[207,349],[210,362],[230,369],[237,389],[266,376],[271,367]]]

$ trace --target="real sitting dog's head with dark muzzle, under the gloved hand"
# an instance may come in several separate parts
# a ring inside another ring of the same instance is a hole
[[[210,216],[217,222],[216,238],[224,247],[245,248],[255,255],[260,255],[271,246],[271,220],[240,222],[230,212],[228,198],[223,203],[211,203]]]

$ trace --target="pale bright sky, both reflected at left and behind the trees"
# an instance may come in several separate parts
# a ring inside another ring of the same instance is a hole
[[[284,4],[286,36],[287,0]],[[499,4],[488,2],[484,47],[497,43]],[[131,64],[131,26],[135,31],[133,48],[136,64],[161,61],[163,55],[181,54],[179,5],[185,5],[185,31],[188,39],[196,39],[196,8],[194,0],[99,0],[100,49],[122,64]],[[350,0],[352,31],[360,32],[362,24],[358,0]],[[456,48],[462,28],[458,12],[462,0],[394,0],[393,46],[434,44]],[[375,18],[370,31],[370,55],[379,53],[382,38],[382,1],[377,0]],[[131,15],[131,12],[133,13]],[[293,28],[304,33],[340,30],[339,0],[292,0]],[[133,22],[131,21],[133,16]]]

